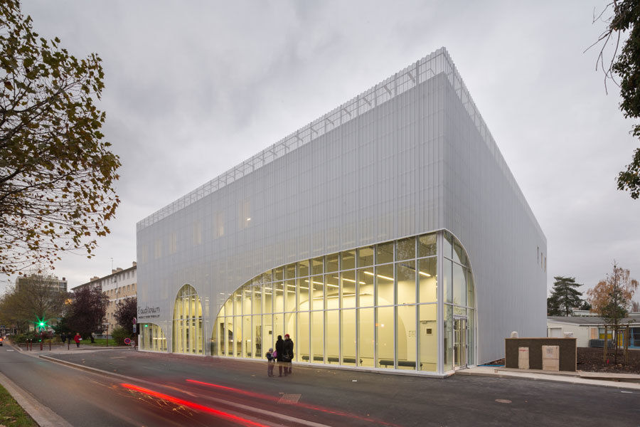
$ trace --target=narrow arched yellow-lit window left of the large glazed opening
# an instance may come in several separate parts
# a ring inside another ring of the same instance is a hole
[[[236,297],[237,300],[242,300]],[[184,285],[174,303],[173,352],[203,354],[202,304],[196,289]]]

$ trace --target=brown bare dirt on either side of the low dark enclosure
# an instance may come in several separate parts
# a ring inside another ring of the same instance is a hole
[[[629,364],[624,363],[624,350],[618,349],[618,364],[615,364],[614,350],[607,351],[608,363],[603,361],[603,349],[591,347],[577,348],[577,370],[585,372],[622,372],[640,374],[640,350],[629,350]],[[504,364],[504,359],[489,364]]]

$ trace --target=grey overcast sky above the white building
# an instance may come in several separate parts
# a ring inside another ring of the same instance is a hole
[[[583,53],[604,3],[25,1],[42,36],[102,57],[122,160],[112,233],[55,274],[128,267],[137,221],[445,46],[547,236],[548,286],[586,290],[614,259],[640,279],[640,201],[615,183],[637,141]]]

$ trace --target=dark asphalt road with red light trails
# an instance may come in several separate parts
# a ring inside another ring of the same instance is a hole
[[[640,426],[635,391],[599,386],[295,365],[292,376],[278,377],[276,368],[268,377],[266,362],[130,349],[51,354],[122,375],[112,378],[7,348],[0,348],[0,371],[77,427]]]

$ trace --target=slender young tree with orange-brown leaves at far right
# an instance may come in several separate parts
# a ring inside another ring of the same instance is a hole
[[[612,274],[607,274],[604,280],[587,291],[592,311],[596,312],[605,325],[614,327],[617,343],[620,322],[629,314],[629,305],[634,293],[638,289],[638,280],[632,279],[629,270],[618,267],[614,261]],[[618,346],[615,345],[615,358],[618,358]],[[605,346],[606,349],[606,346]]]

